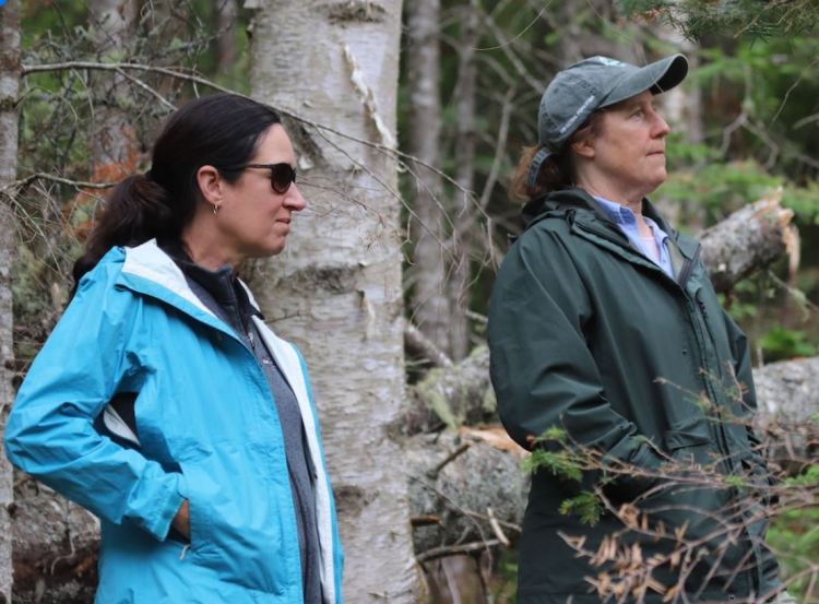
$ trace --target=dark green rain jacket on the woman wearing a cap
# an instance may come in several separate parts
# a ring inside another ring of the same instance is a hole
[[[495,283],[491,380],[507,430],[532,448],[533,437],[557,427],[567,442],[604,455],[603,469],[581,481],[534,474],[518,604],[601,602],[590,579],[615,578],[612,562],[591,565],[563,537],[583,537],[594,553],[618,531],[620,546],[639,544],[642,569],[652,556],[667,556],[675,529],[685,526],[685,541],[699,544],[680,560],[685,571],[669,564],[652,571],[658,585],[685,578],[668,601],[764,601],[780,585],[763,543],[770,490],[758,487],[769,474],[748,427],[756,398],[746,337],[722,309],[699,244],[670,229],[648,201],[643,211],[669,234],[675,279],[633,248],[585,191],[568,189],[526,206],[526,229]],[[685,483],[697,474],[686,463],[713,470],[717,483],[734,478],[722,488]],[[629,465],[677,477],[612,471]],[[624,532],[605,509],[594,525],[560,513],[565,500],[594,485],[603,485],[609,509],[633,504],[640,522],[645,517],[668,536]],[[644,600],[662,595],[648,590]]]

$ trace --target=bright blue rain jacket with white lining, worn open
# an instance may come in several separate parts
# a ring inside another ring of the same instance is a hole
[[[301,410],[324,602],[340,604],[342,550],[307,369],[292,344],[259,328]],[[135,434],[109,406],[119,393],[136,394]],[[95,429],[100,415],[118,438]],[[98,604],[304,601],[264,374],[155,241],[111,249],[81,280],[20,389],[5,448],[100,518]],[[183,499],[190,543],[168,535]]]

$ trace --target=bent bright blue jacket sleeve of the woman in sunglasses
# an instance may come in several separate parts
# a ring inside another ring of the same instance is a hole
[[[94,418],[123,386],[139,382],[141,303],[98,267],[34,360],[5,427],[11,462],[114,523],[131,521],[164,540],[182,502],[181,476],[99,435]],[[129,383],[130,382],[130,383]]]

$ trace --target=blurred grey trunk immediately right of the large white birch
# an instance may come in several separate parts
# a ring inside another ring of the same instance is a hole
[[[407,62],[410,123],[407,152],[413,163],[411,178],[416,190],[410,240],[415,242],[410,281],[413,284],[412,321],[444,353],[450,353],[450,308],[446,292],[446,250],[441,177],[424,167],[438,167],[441,144],[440,0],[415,0],[407,4]]]

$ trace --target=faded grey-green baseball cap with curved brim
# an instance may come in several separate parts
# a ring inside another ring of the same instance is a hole
[[[592,57],[560,71],[541,98],[537,132],[543,146],[532,159],[526,183],[535,185],[543,162],[596,110],[645,91],[660,94],[685,80],[688,61],[682,55],[637,67],[609,57]]]

